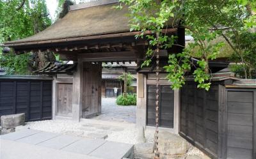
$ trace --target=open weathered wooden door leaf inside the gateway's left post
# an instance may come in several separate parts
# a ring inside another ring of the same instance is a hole
[[[100,114],[101,70],[101,63],[84,63],[83,117]]]

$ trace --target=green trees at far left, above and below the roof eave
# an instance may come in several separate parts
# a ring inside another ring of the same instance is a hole
[[[36,34],[51,25],[45,0],[0,0],[0,43]],[[8,74],[29,74],[35,53],[2,54],[0,67]]]

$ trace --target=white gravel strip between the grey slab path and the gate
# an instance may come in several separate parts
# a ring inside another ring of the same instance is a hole
[[[97,123],[97,124],[95,124]],[[108,135],[106,140],[113,142],[123,142],[127,144],[137,144],[139,130],[133,123],[102,121],[94,119],[84,119],[80,123],[70,120],[47,120],[33,121],[26,123],[25,126],[18,126],[17,131],[22,128],[31,128],[44,132],[61,133],[64,135],[73,135],[78,137],[95,137]],[[160,130],[161,132],[161,130]],[[147,142],[154,140],[154,128],[145,130]],[[188,155],[202,156],[204,153],[189,144]]]

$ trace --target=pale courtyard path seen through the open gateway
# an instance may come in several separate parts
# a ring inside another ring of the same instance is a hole
[[[116,98],[101,98],[101,114],[93,117],[104,121],[136,123],[136,106],[116,105]]]

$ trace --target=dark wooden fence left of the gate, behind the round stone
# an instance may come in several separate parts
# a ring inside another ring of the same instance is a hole
[[[0,76],[0,116],[23,112],[26,121],[51,119],[51,78]]]

